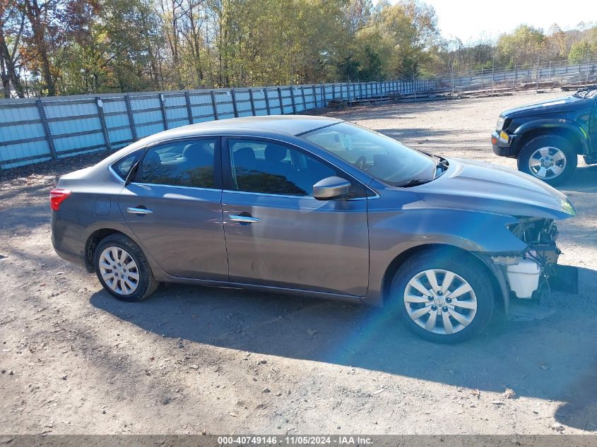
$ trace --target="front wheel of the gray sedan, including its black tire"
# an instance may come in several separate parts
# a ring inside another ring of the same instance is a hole
[[[431,342],[454,344],[485,329],[493,313],[493,290],[489,273],[472,255],[439,249],[412,256],[398,268],[391,303],[410,332]]]

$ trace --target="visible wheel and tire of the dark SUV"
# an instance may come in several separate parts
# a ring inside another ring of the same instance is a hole
[[[561,136],[542,135],[528,141],[518,156],[518,169],[551,186],[562,184],[577,169],[574,146]]]

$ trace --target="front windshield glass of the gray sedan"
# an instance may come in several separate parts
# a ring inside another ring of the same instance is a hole
[[[435,177],[437,160],[356,124],[333,124],[305,133],[302,138],[394,186]]]

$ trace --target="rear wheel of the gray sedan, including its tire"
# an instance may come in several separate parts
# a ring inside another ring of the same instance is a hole
[[[102,239],[93,256],[95,273],[102,286],[117,299],[136,302],[148,297],[159,282],[141,248],[124,234]]]

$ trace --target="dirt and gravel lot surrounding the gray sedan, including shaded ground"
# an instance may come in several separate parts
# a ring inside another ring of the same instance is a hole
[[[561,95],[329,114],[513,167],[488,144],[497,115]],[[545,300],[545,318],[495,321],[441,346],[383,310],[336,302],[178,285],[117,302],[49,240],[49,189],[90,161],[4,173],[0,184],[0,433],[597,431],[597,167],[581,162],[562,187],[579,216],[560,225],[561,261],[580,268],[580,293]]]

